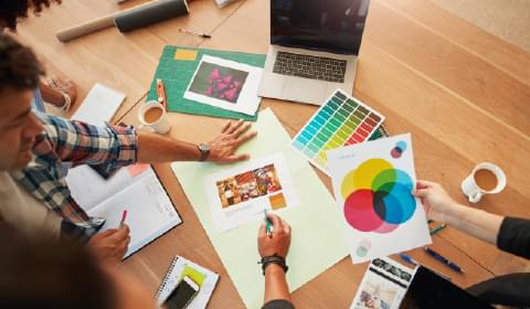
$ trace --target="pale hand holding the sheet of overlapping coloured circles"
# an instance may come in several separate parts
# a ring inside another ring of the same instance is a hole
[[[453,211],[458,205],[442,185],[431,181],[418,180],[412,195],[422,201],[428,219],[442,223],[451,220]]]

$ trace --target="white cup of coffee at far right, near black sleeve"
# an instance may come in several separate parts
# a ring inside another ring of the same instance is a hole
[[[477,203],[485,194],[499,193],[506,187],[505,172],[496,164],[483,162],[462,182],[462,192]]]

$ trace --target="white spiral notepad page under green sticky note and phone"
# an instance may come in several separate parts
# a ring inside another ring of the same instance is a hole
[[[189,266],[198,270],[199,273],[204,274],[206,278],[202,283],[202,286],[199,292],[197,294],[195,298],[193,298],[190,305],[188,305],[188,307],[186,308],[188,309],[206,308],[208,301],[210,300],[213,289],[215,289],[215,285],[218,284],[219,275],[181,256],[178,256],[177,258],[178,258],[177,263],[171,269],[171,273],[166,275],[166,278],[165,278],[166,281],[165,281],[163,288],[158,294],[158,297],[157,297],[158,306],[162,306],[162,303],[168,299],[168,297],[171,295],[173,289],[179,284],[178,280],[179,280],[180,274],[182,274],[182,270],[184,270],[186,266]]]

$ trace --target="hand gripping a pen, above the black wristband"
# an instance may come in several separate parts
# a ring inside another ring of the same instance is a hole
[[[290,225],[275,214],[269,214],[267,217],[273,225],[273,234],[269,237],[265,223],[262,223],[257,235],[259,256],[265,257],[277,254],[286,258],[290,246]]]

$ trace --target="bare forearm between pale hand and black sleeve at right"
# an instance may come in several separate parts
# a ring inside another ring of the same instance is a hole
[[[504,217],[481,210],[455,204],[447,214],[447,223],[474,237],[497,245]]]

